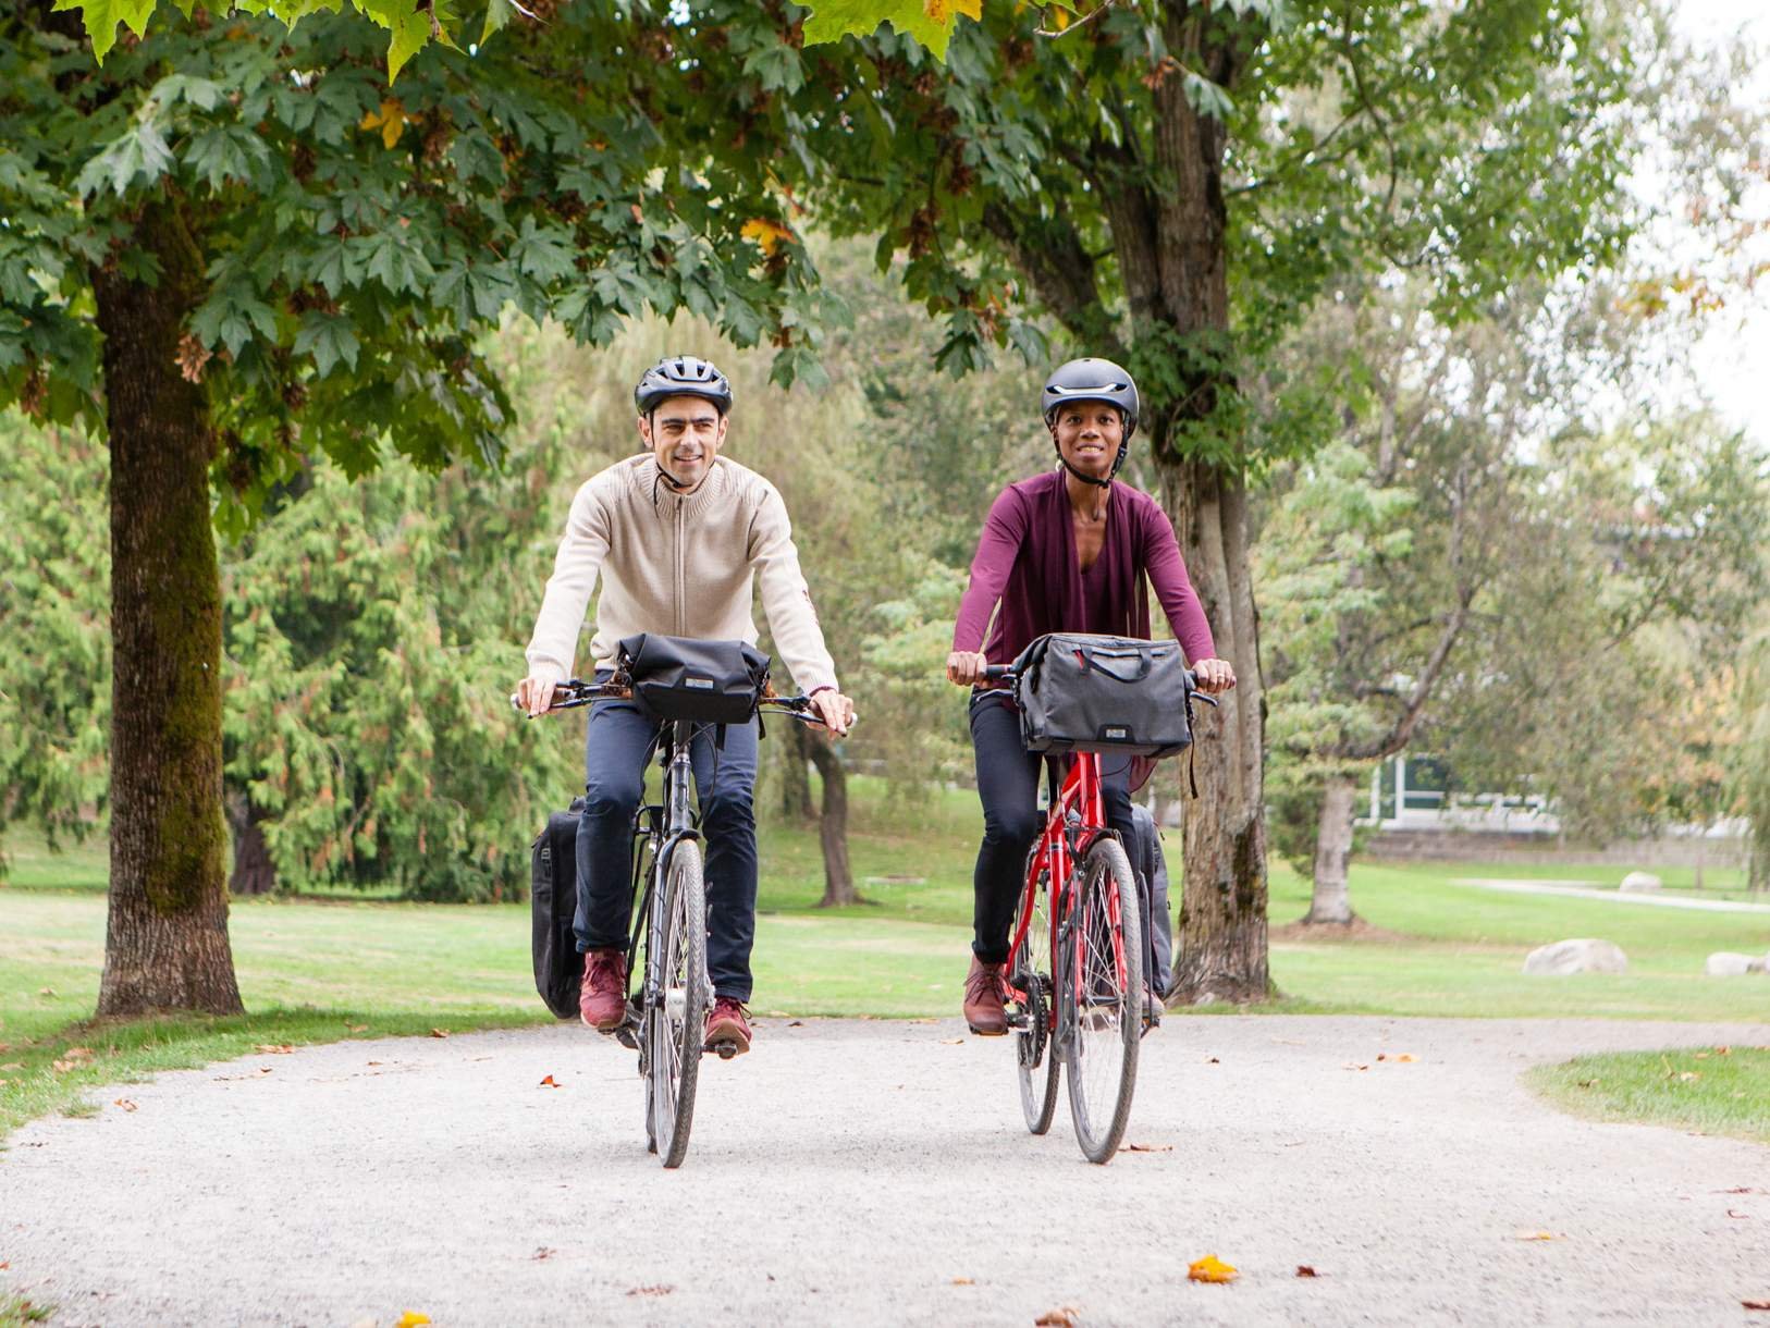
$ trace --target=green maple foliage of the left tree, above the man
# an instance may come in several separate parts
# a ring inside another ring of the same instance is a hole
[[[832,310],[770,168],[796,133],[704,133],[768,104],[747,58],[782,28],[735,2],[697,19],[704,41],[644,2],[563,7],[545,42],[471,60],[427,48],[396,94],[352,16],[285,32],[161,14],[103,67],[53,21],[11,23],[0,404],[103,425],[88,283],[101,264],[152,280],[135,225],[149,197],[170,200],[207,269],[173,349],[212,404],[232,533],[301,453],[350,475],[389,437],[428,467],[496,457],[512,407],[476,336],[506,308],[586,344],[687,308],[738,344],[772,342],[782,379],[809,372]],[[752,239],[761,221],[781,237]]]

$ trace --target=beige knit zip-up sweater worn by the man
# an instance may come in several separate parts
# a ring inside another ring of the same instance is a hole
[[[545,666],[561,678],[572,673],[598,574],[589,643],[596,668],[612,666],[616,645],[634,632],[756,645],[750,600],[759,574],[763,611],[793,682],[804,692],[837,685],[781,490],[735,460],[715,457],[692,494],[662,482],[650,453],[584,482],[535,620],[531,676]]]

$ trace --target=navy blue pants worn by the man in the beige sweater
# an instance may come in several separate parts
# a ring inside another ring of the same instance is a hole
[[[627,949],[634,915],[634,809],[658,721],[632,701],[596,701],[584,742],[584,811],[577,823],[579,951]],[[750,999],[756,942],[756,721],[727,724],[726,745],[701,728],[689,747],[706,845],[706,970],[715,995]]]

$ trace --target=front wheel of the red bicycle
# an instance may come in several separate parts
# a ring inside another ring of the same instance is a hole
[[[1112,1162],[1131,1119],[1143,1034],[1143,933],[1136,878],[1117,839],[1081,859],[1058,930],[1058,1041],[1069,1116],[1089,1162]]]

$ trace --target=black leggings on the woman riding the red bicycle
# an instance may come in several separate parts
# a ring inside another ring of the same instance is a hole
[[[972,747],[977,751],[977,797],[984,804],[984,843],[972,876],[972,953],[984,963],[1007,960],[1009,926],[1027,880],[1027,850],[1044,829],[1039,776],[1044,758],[1020,740],[1020,712],[1005,692],[972,698]],[[1131,820],[1131,758],[1101,756],[1101,797],[1106,825],[1136,843]]]

